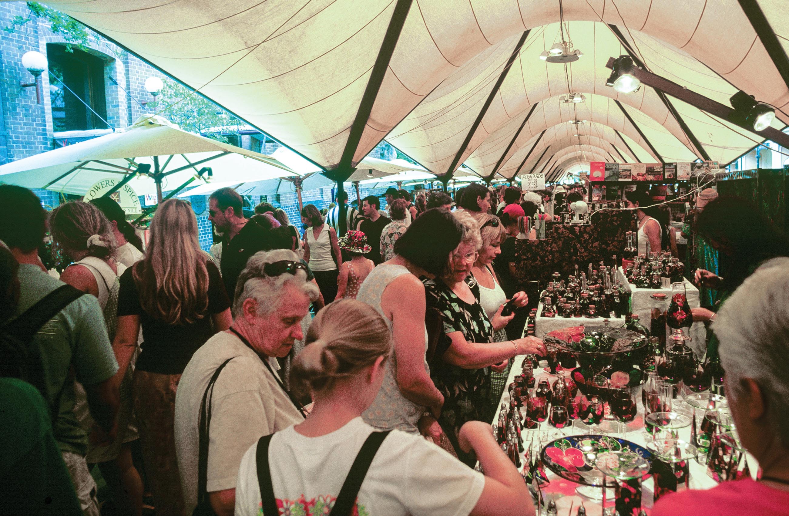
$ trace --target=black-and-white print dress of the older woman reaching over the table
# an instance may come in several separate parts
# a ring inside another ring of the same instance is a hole
[[[458,452],[458,457],[473,466],[473,454],[464,454],[458,446],[458,432],[467,421],[490,422],[490,368],[464,369],[441,360],[451,340],[448,334],[462,331],[468,342],[493,342],[493,326],[479,303],[479,286],[469,276],[466,283],[474,294],[473,304],[466,303],[440,279],[424,283],[428,308],[438,308],[443,316],[443,334],[436,346],[431,377],[444,397],[439,424]]]

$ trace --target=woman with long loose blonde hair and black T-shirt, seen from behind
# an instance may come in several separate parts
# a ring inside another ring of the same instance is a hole
[[[156,514],[181,514],[175,458],[175,393],[195,351],[230,327],[230,300],[219,269],[197,241],[197,219],[184,200],[159,205],[143,260],[121,275],[113,350],[120,385],[143,329],[134,371],[134,411]],[[232,294],[232,293],[231,293]]]

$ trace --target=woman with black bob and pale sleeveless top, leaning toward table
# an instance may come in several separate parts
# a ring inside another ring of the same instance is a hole
[[[395,242],[394,258],[374,268],[361,284],[357,299],[383,316],[394,342],[383,387],[363,414],[365,422],[376,428],[412,434],[425,428],[426,432],[428,426],[419,425],[425,410],[440,413],[443,395],[430,379],[425,360],[427,308],[420,278],[443,273],[462,235],[462,226],[449,211],[425,211]]]

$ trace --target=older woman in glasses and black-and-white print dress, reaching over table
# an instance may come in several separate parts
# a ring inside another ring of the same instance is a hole
[[[454,214],[462,226],[462,238],[449,264],[438,278],[425,282],[428,308],[442,314],[443,335],[435,352],[431,372],[443,394],[444,406],[438,422],[447,433],[458,457],[473,465],[473,454],[458,446],[458,432],[466,421],[492,420],[490,368],[516,355],[545,354],[542,341],[534,337],[493,342],[494,327],[504,327],[511,316],[497,313],[488,318],[479,301],[479,286],[470,275],[477,262],[482,240],[477,222],[466,213]]]

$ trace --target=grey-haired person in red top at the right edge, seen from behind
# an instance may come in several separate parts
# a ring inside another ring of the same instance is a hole
[[[713,327],[731,415],[761,477],[667,496],[653,516],[789,514],[789,258],[759,267],[720,308]]]

